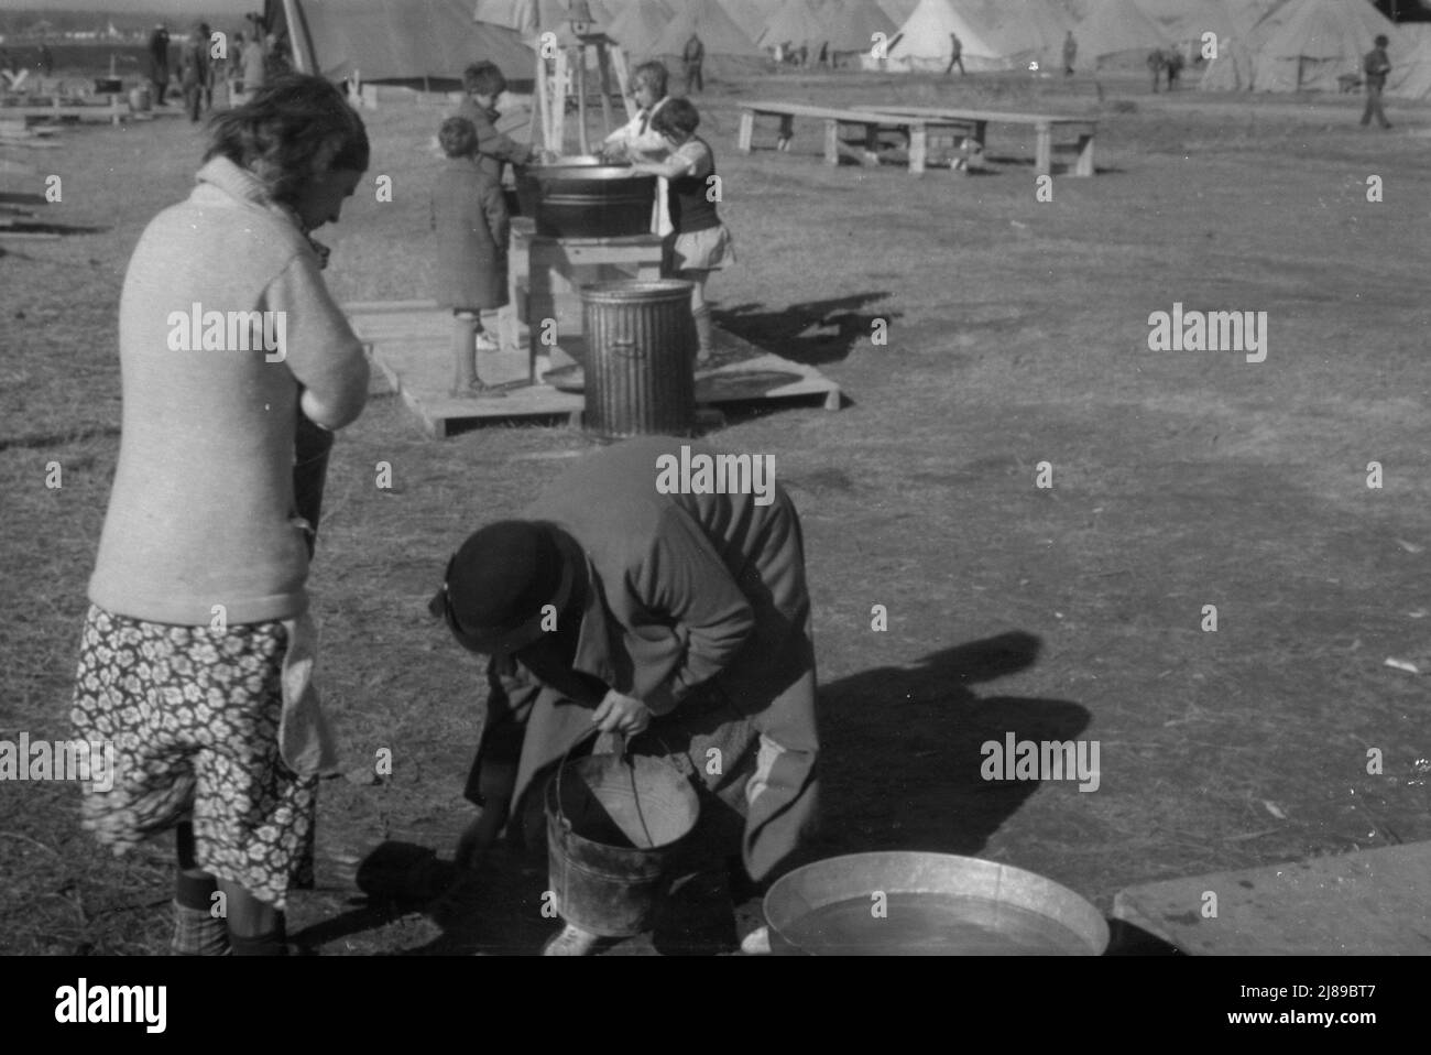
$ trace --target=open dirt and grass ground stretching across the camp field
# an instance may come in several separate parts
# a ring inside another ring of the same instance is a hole
[[[827,167],[814,126],[790,153],[766,127],[743,156],[737,107],[758,97],[1096,113],[1099,175],[1056,178],[1037,200],[1032,135],[1005,126],[992,170],[967,178]],[[1431,669],[1431,112],[1392,103],[1381,133],[1357,126],[1359,102],[1151,96],[1132,74],[1100,93],[1082,77],[786,74],[700,99],[740,255],[711,283],[717,322],[819,365],[850,399],[713,437],[773,454],[804,520],[824,740],[811,855],[977,855],[1108,912],[1135,883],[1431,837],[1425,681],[1384,666]],[[365,113],[369,175],[392,178],[394,200],[361,192],[319,232],[341,299],[429,295],[438,116]],[[62,176],[46,219],[82,233],[0,240],[11,740],[67,736],[119,441],[120,282],[202,152],[180,119],[60,142],[24,160]],[[1265,362],[1149,351],[1149,315],[1175,302],[1266,312]],[[876,319],[887,345],[871,344]],[[290,932],[323,955],[531,953],[555,928],[539,855],[504,852],[438,896],[471,816],[482,689],[425,603],[451,550],[587,441],[428,441],[375,392],[335,451],[312,590],[345,766],[371,770],[388,749],[392,773],[325,783],[318,889],[295,895]],[[379,461],[391,490],[375,487]],[[980,744],[1010,731],[1096,740],[1098,790],[985,782]],[[77,800],[66,783],[0,786],[0,952],[163,952],[170,847],[110,859]],[[687,889],[655,939],[618,952],[728,951],[731,920],[707,895]]]

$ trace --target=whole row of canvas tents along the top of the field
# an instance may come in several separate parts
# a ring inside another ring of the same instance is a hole
[[[1075,67],[1089,70],[1153,49],[1192,54],[1211,39],[1202,87],[1269,92],[1335,90],[1384,33],[1388,90],[1431,93],[1431,40],[1398,30],[1371,0],[268,0],[268,13],[302,23],[322,73],[366,80],[445,80],[474,57],[525,79],[538,34],[581,16],[635,59],[680,56],[698,34],[717,69],[803,44],[811,59],[829,50],[937,70],[957,34],[966,70],[1062,69],[1070,36]]]

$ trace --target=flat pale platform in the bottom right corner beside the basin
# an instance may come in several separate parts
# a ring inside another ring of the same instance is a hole
[[[1193,955],[1425,956],[1431,843],[1130,886],[1113,918]]]

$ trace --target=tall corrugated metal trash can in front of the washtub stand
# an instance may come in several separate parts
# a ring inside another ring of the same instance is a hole
[[[695,321],[681,279],[581,288],[585,427],[605,438],[690,435]]]

